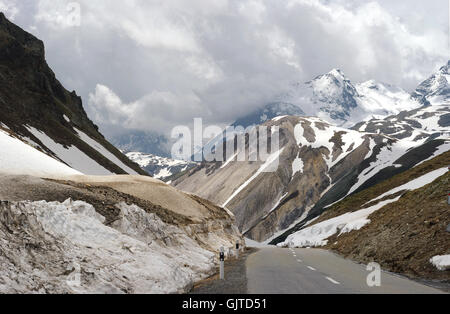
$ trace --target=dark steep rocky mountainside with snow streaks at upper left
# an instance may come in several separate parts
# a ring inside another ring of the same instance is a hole
[[[44,44],[0,13],[0,127],[87,174],[146,174],[112,146],[45,61]],[[86,165],[89,166],[86,166]]]

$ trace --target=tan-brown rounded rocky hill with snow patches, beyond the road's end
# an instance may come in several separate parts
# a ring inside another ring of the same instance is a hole
[[[345,196],[369,165],[362,163],[395,145],[384,136],[341,129],[318,118],[281,117],[265,125],[280,127],[280,151],[272,152],[279,155],[275,172],[261,172],[267,163],[228,160],[203,163],[173,183],[227,206],[245,235],[258,241],[305,216],[333,186],[339,192],[329,202]]]

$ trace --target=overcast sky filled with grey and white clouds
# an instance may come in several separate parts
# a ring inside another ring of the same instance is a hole
[[[0,0],[106,135],[223,124],[342,69],[412,90],[449,58],[448,0]],[[75,8],[75,9],[73,9]]]

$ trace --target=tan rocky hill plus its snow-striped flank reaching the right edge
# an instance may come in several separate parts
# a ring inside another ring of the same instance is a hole
[[[281,117],[266,125],[281,129],[275,172],[261,172],[262,162],[227,160],[203,163],[173,182],[228,207],[241,231],[257,241],[286,238],[328,205],[450,149],[444,138],[399,140],[318,118]]]

